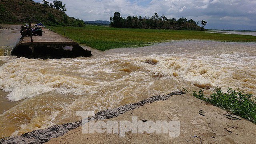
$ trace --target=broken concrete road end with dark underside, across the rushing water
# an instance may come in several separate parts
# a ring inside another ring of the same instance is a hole
[[[90,57],[91,51],[85,50],[77,42],[60,36],[47,28],[42,28],[43,36],[33,36],[34,56],[30,37],[21,38],[11,55],[26,58],[75,58]]]

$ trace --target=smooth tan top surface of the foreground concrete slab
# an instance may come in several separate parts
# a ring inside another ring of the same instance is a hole
[[[204,116],[199,114],[204,110]],[[51,139],[47,144],[254,144],[256,125],[247,120],[230,120],[225,110],[206,104],[190,94],[174,95],[165,101],[145,104],[111,121],[132,121],[132,116],[145,124],[156,121],[180,121],[180,134],[126,132],[124,138],[116,133],[82,134],[82,128]],[[104,120],[106,122],[106,120]]]

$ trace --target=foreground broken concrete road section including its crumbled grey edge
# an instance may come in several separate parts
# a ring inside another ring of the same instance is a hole
[[[204,110],[205,114],[198,112]],[[98,112],[95,120],[132,121],[132,116],[144,123],[158,120],[180,121],[180,134],[176,138],[168,134],[127,132],[124,138],[114,134],[82,134],[81,121],[35,130],[22,136],[3,139],[0,143],[247,143],[256,141],[256,125],[247,120],[230,120],[225,110],[206,104],[202,100],[172,92],[165,96],[153,96],[134,104]],[[90,119],[90,118],[89,118]],[[50,141],[49,141],[50,140]]]

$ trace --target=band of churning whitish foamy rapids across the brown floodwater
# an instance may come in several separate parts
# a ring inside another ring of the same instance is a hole
[[[154,59],[158,63],[150,65],[146,63],[146,60],[149,59]],[[218,57],[120,55],[93,60],[16,58],[1,66],[0,88],[10,92],[8,100],[18,101],[52,90],[60,94],[95,94],[100,90],[100,86],[116,85],[118,81],[122,84],[124,81],[145,80],[145,77],[150,75],[182,78],[196,86],[202,86],[202,88],[205,86],[236,87],[241,85],[243,81],[232,78],[232,74],[249,72],[255,76],[253,74],[255,69],[251,69],[255,68],[255,63],[256,56],[249,56],[248,54],[220,54]],[[118,76],[120,68],[132,64],[130,74]],[[250,70],[244,72],[243,70],[246,68],[250,68]],[[175,74],[178,76],[174,76]],[[250,74],[248,76],[253,80],[254,78]],[[251,85],[255,86],[255,83],[251,83]]]

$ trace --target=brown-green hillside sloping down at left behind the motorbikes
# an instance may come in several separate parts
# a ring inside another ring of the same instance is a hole
[[[33,0],[0,0],[0,23],[22,24],[28,20],[49,26],[84,26],[83,20],[70,18],[66,13],[43,6]]]

